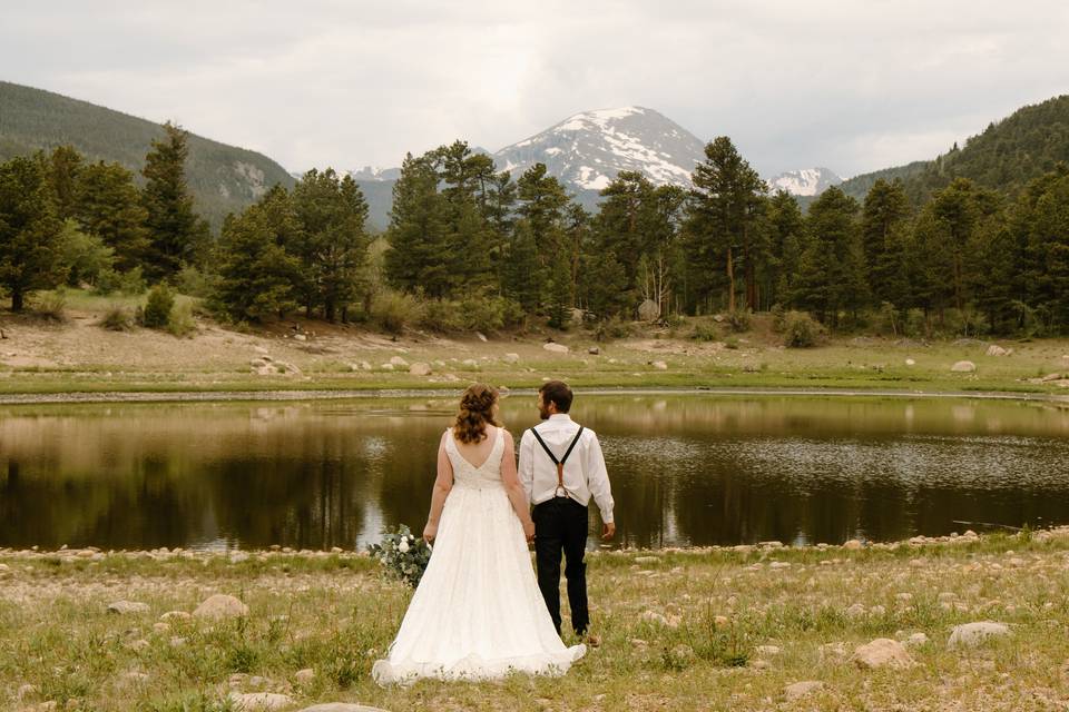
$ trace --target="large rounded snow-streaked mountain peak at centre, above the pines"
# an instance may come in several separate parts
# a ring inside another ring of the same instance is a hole
[[[645,107],[582,111],[493,154],[513,178],[546,164],[549,174],[578,188],[600,190],[621,170],[645,174],[656,185],[690,186],[705,145],[663,115]]]

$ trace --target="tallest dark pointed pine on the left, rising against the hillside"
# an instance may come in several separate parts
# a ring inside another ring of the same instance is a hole
[[[184,264],[195,264],[208,245],[208,224],[194,211],[186,185],[189,156],[187,134],[167,122],[166,135],[153,140],[145,157],[141,204],[148,212],[149,254],[146,273],[155,278],[176,274]]]

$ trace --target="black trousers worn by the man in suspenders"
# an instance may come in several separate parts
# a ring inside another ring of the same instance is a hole
[[[553,497],[534,505],[531,518],[534,520],[538,587],[546,600],[549,616],[560,633],[560,554],[563,552],[571,627],[582,635],[590,623],[587,565],[582,561],[587,551],[588,508],[570,497]]]

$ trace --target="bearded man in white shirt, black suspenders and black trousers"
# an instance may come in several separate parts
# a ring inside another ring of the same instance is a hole
[[[538,390],[538,413],[543,423],[524,431],[520,439],[519,475],[527,498],[534,505],[534,556],[538,587],[549,615],[560,633],[560,554],[568,578],[571,626],[580,637],[587,632],[588,503],[594,497],[601,511],[601,538],[616,533],[612,493],[601,446],[594,431],[571,419],[571,388],[550,380]],[[591,643],[595,641],[591,640]]]

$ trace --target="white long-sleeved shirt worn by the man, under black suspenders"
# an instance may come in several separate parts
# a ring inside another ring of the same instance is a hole
[[[559,461],[579,432],[579,424],[567,413],[555,413],[548,421],[534,426],[538,434]],[[520,483],[531,504],[541,504],[552,500],[557,492],[557,465],[550,459],[530,431],[523,431],[520,438]],[[605,468],[605,457],[598,436],[589,428],[582,429],[579,442],[565,462],[565,490],[568,496],[587,506],[590,497],[601,511],[601,521],[612,523],[612,491],[609,487],[609,473]]]

